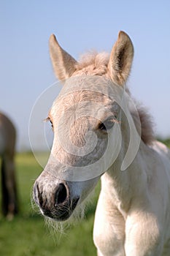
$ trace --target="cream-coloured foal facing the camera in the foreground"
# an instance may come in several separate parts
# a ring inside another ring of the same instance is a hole
[[[93,240],[98,255],[170,255],[170,153],[125,82],[134,47],[120,31],[110,56],[77,62],[50,37],[61,94],[48,119],[54,140],[34,184],[42,214],[64,221],[101,178]]]

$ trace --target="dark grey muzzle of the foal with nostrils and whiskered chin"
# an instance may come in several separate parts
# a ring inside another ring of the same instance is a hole
[[[38,181],[34,184],[34,201],[42,214],[51,219],[63,221],[68,219],[76,208],[79,197],[72,198],[66,183],[60,183],[54,192],[45,192]]]

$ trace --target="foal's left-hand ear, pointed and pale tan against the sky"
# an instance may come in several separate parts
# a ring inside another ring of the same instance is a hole
[[[69,78],[76,70],[77,61],[66,53],[58,44],[55,35],[52,34],[49,40],[50,58],[53,64],[55,75],[59,80]]]

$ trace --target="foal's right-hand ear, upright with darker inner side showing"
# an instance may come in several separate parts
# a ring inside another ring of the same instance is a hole
[[[109,58],[109,75],[114,83],[123,86],[131,71],[134,46],[125,32],[120,31]]]

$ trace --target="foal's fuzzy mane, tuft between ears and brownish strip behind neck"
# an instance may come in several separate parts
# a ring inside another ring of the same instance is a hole
[[[80,58],[80,61],[77,62],[74,75],[99,75],[109,78],[108,63],[108,53],[85,53]],[[136,109],[138,110],[139,118],[136,117],[136,113],[131,111],[134,124],[137,130],[141,127],[141,138],[145,144],[149,145],[154,140],[152,118],[142,105],[136,103]]]

